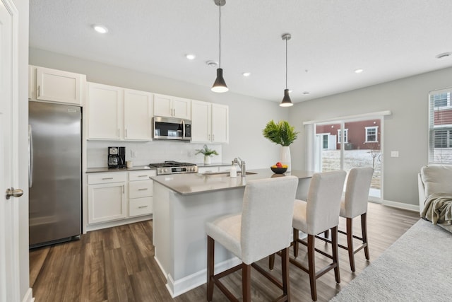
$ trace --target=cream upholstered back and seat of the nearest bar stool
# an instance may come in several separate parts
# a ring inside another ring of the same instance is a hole
[[[242,214],[206,223],[208,236],[246,265],[287,248],[297,186],[295,176],[250,180],[245,187]]]

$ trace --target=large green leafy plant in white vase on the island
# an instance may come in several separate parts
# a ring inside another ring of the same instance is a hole
[[[295,128],[290,126],[287,121],[280,121],[278,124],[270,120],[266,124],[265,129],[262,130],[263,137],[272,141],[275,144],[281,145],[280,162],[283,165],[287,165],[287,172],[290,172],[290,149],[299,132],[295,131]]]

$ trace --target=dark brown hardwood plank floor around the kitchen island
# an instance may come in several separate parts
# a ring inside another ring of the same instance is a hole
[[[367,214],[369,250],[375,260],[419,219],[419,213],[369,203]],[[354,221],[360,234],[359,218]],[[155,262],[152,245],[152,221],[117,226],[82,235],[80,240],[30,250],[30,286],[36,302],[44,301],[206,301],[206,284],[186,294],[171,298],[165,287],[165,277]],[[340,219],[345,229],[345,219]],[[346,243],[345,236],[339,236]],[[317,240],[317,248],[329,250],[329,245]],[[307,260],[306,247],[300,245],[299,260]],[[317,280],[318,301],[329,301],[335,294],[369,265],[364,251],[355,255],[356,272],[350,271],[347,251],[339,249],[340,284],[333,271]],[[291,252],[292,255],[292,252]],[[316,258],[320,267],[327,261]],[[259,262],[268,267],[268,258]],[[272,272],[280,277],[280,257]],[[271,301],[280,295],[279,289],[261,274],[252,270],[253,301]],[[241,274],[225,277],[232,292],[241,296]],[[311,301],[309,276],[290,265],[292,301]],[[213,301],[227,301],[214,289]]]

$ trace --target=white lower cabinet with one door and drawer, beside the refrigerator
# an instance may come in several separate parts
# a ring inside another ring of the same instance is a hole
[[[126,216],[126,173],[88,175],[88,223]]]

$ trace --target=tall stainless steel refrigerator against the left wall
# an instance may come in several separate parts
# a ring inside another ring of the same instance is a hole
[[[30,248],[81,234],[81,108],[29,102]]]

